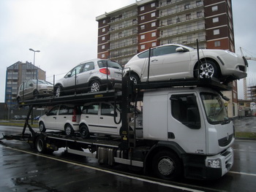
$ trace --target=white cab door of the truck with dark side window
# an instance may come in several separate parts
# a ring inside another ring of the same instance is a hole
[[[187,153],[206,153],[206,127],[195,93],[169,95],[168,140]]]

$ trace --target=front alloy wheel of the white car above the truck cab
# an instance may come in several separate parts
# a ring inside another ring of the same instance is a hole
[[[198,70],[195,70],[195,77],[199,77],[200,79],[217,78],[218,76],[218,68],[213,61],[203,61],[199,65],[199,72]]]

